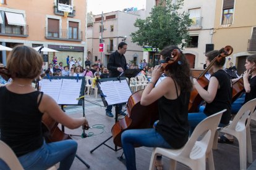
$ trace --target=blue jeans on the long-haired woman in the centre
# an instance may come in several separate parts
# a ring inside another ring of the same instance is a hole
[[[155,129],[131,129],[122,132],[122,148],[126,156],[126,168],[136,169],[134,144],[145,147],[172,148]]]

